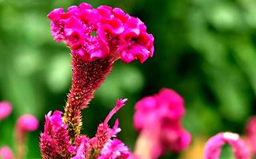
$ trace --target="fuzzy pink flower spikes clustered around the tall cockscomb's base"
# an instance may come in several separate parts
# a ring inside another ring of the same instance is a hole
[[[115,135],[121,131],[118,120],[112,129],[107,124],[111,117],[125,105],[127,99],[117,100],[117,105],[107,115],[105,121],[99,124],[96,136],[88,138],[80,135],[74,144],[70,142],[67,125],[62,121],[62,112],[55,111],[53,114],[46,115],[44,132],[40,134],[40,150],[42,158],[104,158],[104,159],[126,159],[130,152],[127,146]],[[113,138],[113,140],[111,139]]]

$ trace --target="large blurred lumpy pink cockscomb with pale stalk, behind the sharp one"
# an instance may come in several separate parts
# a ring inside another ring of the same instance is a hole
[[[190,144],[190,134],[181,125],[184,111],[182,97],[172,89],[162,89],[158,94],[138,101],[133,121],[141,134],[135,154],[159,158],[168,150],[184,150]]]

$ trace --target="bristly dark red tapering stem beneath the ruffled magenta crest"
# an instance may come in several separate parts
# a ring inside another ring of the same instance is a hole
[[[73,143],[82,127],[81,111],[88,107],[94,91],[103,83],[112,70],[110,58],[86,62],[78,54],[72,53],[72,86],[64,109],[63,121],[68,125],[70,140]]]

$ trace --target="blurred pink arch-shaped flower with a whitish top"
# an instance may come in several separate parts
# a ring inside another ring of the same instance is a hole
[[[233,147],[236,159],[249,159],[249,149],[245,142],[232,132],[221,132],[210,138],[204,147],[204,159],[219,159],[221,148],[226,143]]]

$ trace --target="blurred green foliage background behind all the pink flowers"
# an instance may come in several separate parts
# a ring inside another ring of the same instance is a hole
[[[70,87],[69,49],[50,35],[46,15],[82,1],[0,0],[0,100],[14,111],[0,122],[0,146],[13,148],[13,128],[23,113],[40,120],[29,134],[27,158],[40,158],[38,133],[44,115],[60,109]],[[155,55],[144,64],[116,62],[86,109],[83,131],[89,136],[120,97],[127,105],[115,115],[119,133],[133,149],[133,106],[162,87],[175,89],[186,101],[184,127],[194,137],[220,131],[243,133],[256,106],[255,0],[111,0],[86,1],[111,5],[139,17],[155,36]],[[112,119],[112,123],[113,123]],[[178,158],[166,154],[162,158]],[[224,151],[222,158],[231,158]],[[188,158],[189,159],[189,158]]]

